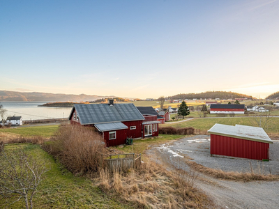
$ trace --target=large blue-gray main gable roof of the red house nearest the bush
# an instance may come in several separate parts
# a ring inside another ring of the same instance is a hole
[[[77,111],[80,124],[110,123],[120,121],[143,121],[145,118],[133,103],[128,104],[75,104],[73,111]]]

